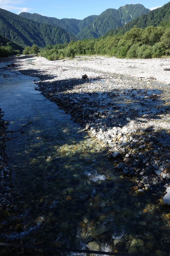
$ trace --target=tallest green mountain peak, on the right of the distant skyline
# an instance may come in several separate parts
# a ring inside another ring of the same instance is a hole
[[[130,20],[139,17],[144,13],[150,12],[142,4],[126,4],[116,9],[107,9],[103,11],[90,25],[84,27],[76,37],[83,38],[99,37],[107,31],[127,24]]]

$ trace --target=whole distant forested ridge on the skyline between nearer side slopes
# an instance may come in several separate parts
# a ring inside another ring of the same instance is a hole
[[[107,31],[123,26],[130,20],[139,17],[143,13],[148,13],[149,11],[150,10],[145,8],[142,4],[126,4],[125,6],[121,6],[118,10],[107,9],[99,16],[88,16],[81,21],[76,19],[51,18],[28,12],[21,12],[20,16],[40,23],[59,26],[82,40],[85,38],[98,38]]]

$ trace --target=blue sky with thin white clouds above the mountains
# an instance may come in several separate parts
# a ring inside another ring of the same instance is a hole
[[[99,15],[108,8],[118,9],[125,4],[143,4],[151,9],[161,7],[164,0],[0,0],[0,8],[19,14],[20,12],[39,13],[43,16],[84,19],[90,15]]]

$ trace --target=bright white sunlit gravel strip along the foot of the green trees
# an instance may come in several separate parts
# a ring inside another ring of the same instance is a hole
[[[164,71],[170,67],[170,59],[117,59],[115,57],[76,57],[73,60],[48,61],[38,57],[34,62],[40,65],[62,65],[62,68],[91,68],[97,72],[110,72],[133,77],[154,77],[159,82],[170,83],[170,71]],[[75,73],[76,75],[76,73]]]

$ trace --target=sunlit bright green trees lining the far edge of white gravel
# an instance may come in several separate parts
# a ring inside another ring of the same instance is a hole
[[[117,58],[158,58],[170,55],[170,27],[134,27],[124,35],[84,39],[65,45],[46,46],[39,55],[58,60],[75,55],[108,55]]]

